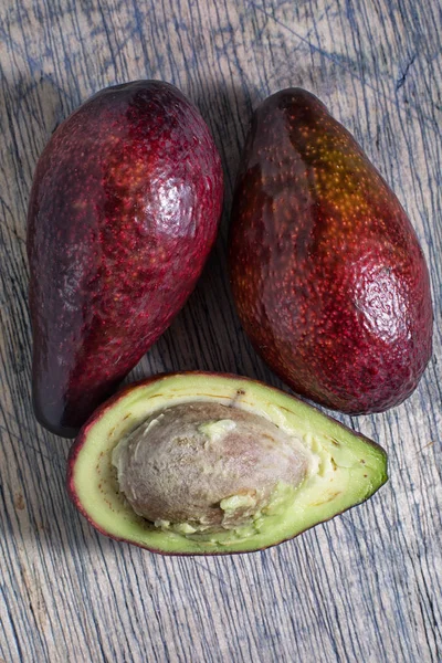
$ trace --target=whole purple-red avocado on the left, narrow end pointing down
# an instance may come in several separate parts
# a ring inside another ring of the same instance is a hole
[[[223,178],[172,85],[98,92],[54,133],[28,214],[33,404],[74,436],[169,326],[213,245]]]

